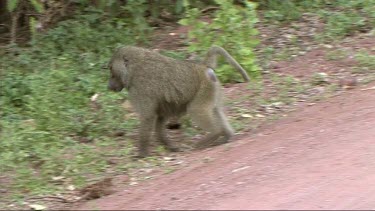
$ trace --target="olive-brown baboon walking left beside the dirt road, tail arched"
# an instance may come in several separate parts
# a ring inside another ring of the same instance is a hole
[[[116,92],[127,89],[129,100],[139,114],[137,157],[148,156],[152,131],[168,150],[178,151],[166,136],[165,124],[170,117],[186,113],[208,132],[196,148],[223,144],[233,136],[222,109],[221,85],[213,71],[218,53],[249,80],[243,68],[218,46],[210,48],[203,64],[179,61],[133,46],[119,48],[113,54],[108,88]]]

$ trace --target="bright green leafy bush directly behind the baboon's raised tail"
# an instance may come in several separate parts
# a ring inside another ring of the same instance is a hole
[[[213,14],[212,22],[200,21],[200,11],[186,7],[186,18],[180,21],[182,25],[192,26],[188,37],[191,52],[205,53],[212,45],[219,45],[227,49],[233,57],[248,71],[251,77],[260,76],[255,63],[253,48],[259,43],[254,38],[258,34],[254,25],[257,22],[256,5],[244,1],[246,7],[236,6],[233,1],[216,0],[220,9]],[[241,80],[236,71],[228,64],[220,65],[215,70],[223,82]]]

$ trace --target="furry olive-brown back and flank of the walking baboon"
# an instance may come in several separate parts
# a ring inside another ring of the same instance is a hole
[[[178,61],[137,47],[125,47],[121,52],[128,63],[130,83],[136,79],[132,86],[144,97],[184,103],[192,99],[200,88],[206,69],[202,65]]]

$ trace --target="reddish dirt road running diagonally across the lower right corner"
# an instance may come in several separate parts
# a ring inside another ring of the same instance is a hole
[[[361,88],[79,209],[375,209],[375,90]]]

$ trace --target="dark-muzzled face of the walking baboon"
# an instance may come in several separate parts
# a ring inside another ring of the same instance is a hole
[[[115,92],[120,92],[125,87],[126,75],[126,60],[123,58],[114,57],[108,65],[110,77],[108,82],[108,89]]]

